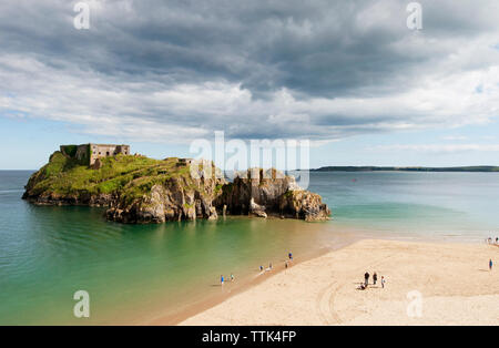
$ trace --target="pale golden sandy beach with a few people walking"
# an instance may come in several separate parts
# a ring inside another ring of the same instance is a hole
[[[180,325],[499,325],[498,264],[491,245],[365,239],[267,273]],[[366,270],[378,284],[359,290]]]

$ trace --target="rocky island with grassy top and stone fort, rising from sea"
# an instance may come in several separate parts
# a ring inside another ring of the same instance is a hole
[[[212,162],[202,162],[201,170],[196,164],[193,175],[193,163],[185,158],[130,155],[125,145],[71,146],[61,146],[31,175],[22,198],[38,205],[103,206],[106,218],[120,223],[216,219],[224,214],[314,222],[330,215],[319,195],[276,170],[252,168],[227,182],[215,175],[220,171]]]

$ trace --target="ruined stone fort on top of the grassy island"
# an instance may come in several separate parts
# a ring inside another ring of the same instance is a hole
[[[118,154],[130,155],[130,145],[90,143],[82,145],[61,145],[60,149],[64,155],[86,165],[94,165],[95,161],[103,157],[115,156]]]

